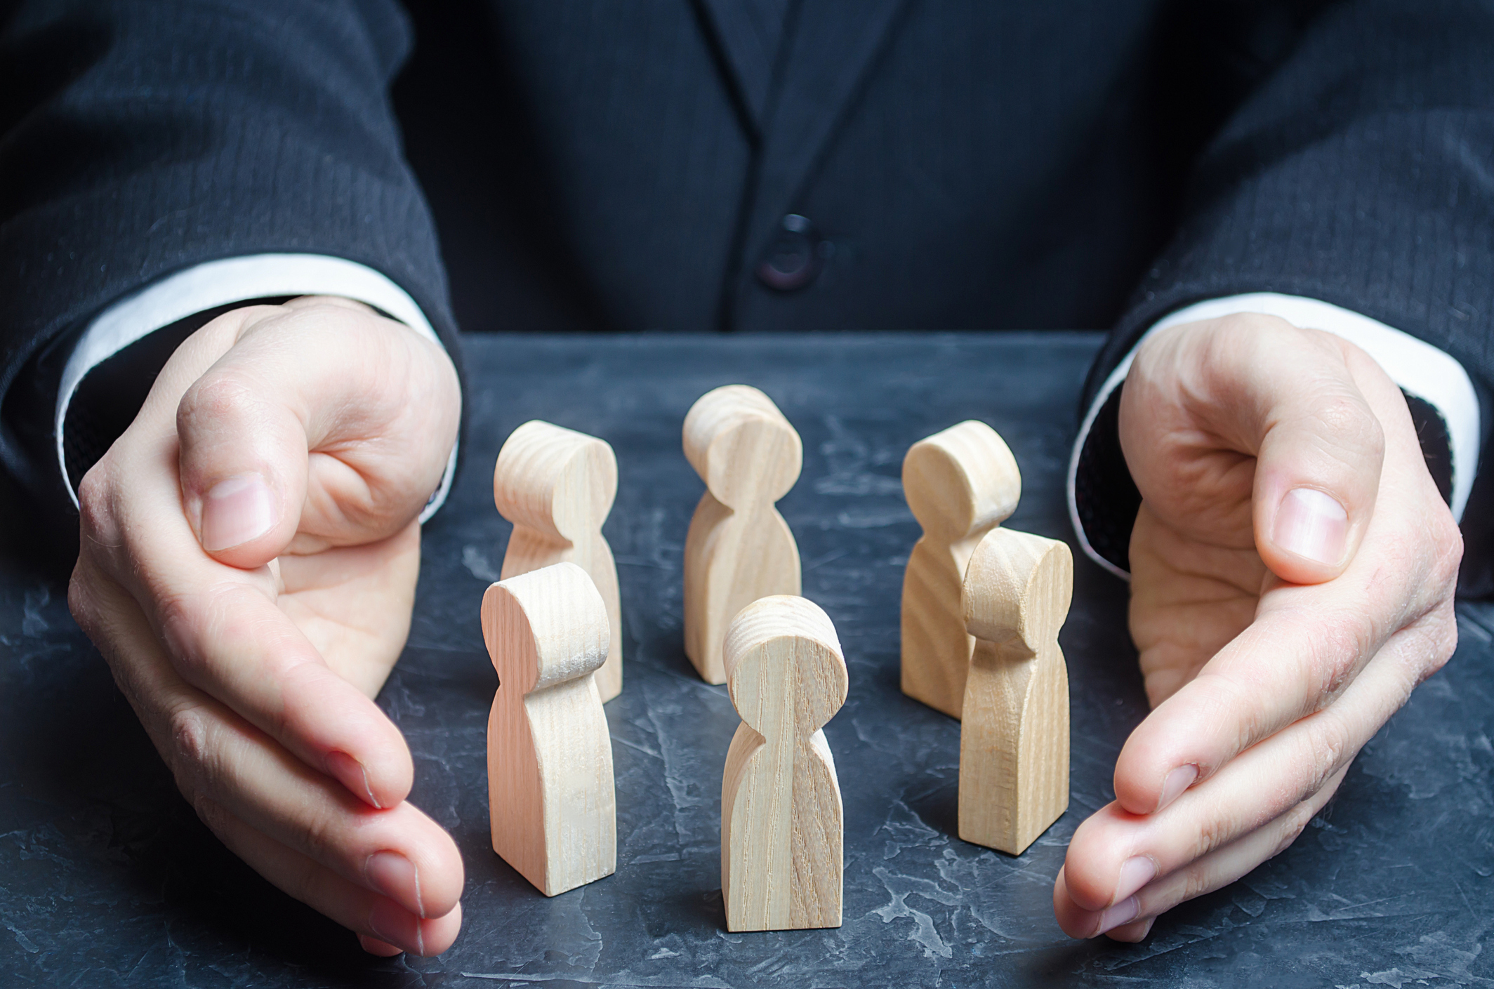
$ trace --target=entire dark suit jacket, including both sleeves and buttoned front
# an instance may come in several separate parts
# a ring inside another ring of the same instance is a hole
[[[1282,291],[1494,384],[1487,1],[0,9],[0,454],[34,489],[72,335],[269,251],[384,272],[453,348],[459,324],[1110,327],[1092,390],[1165,312]]]

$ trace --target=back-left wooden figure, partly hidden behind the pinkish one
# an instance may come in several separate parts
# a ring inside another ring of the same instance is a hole
[[[514,523],[502,578],[551,563],[578,565],[607,604],[613,630],[596,674],[602,701],[623,692],[623,613],[617,563],[602,523],[617,496],[617,457],[607,441],[530,420],[509,433],[493,468],[498,514]]]

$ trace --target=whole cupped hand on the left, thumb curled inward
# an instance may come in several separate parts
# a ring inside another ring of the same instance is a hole
[[[445,351],[339,299],[229,312],[79,487],[69,604],[203,822],[365,949],[435,955],[462,859],[372,698],[456,441]]]

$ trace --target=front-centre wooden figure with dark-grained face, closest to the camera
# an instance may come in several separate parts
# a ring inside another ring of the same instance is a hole
[[[722,898],[729,931],[841,925],[844,814],[820,731],[846,704],[846,659],[819,605],[774,595],[726,633],[743,723],[722,777]]]

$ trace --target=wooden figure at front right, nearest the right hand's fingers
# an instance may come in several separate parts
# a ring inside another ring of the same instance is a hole
[[[1068,669],[1058,630],[1074,557],[1056,539],[994,529],[965,571],[976,656],[959,728],[959,837],[1020,855],[1068,808]]]

